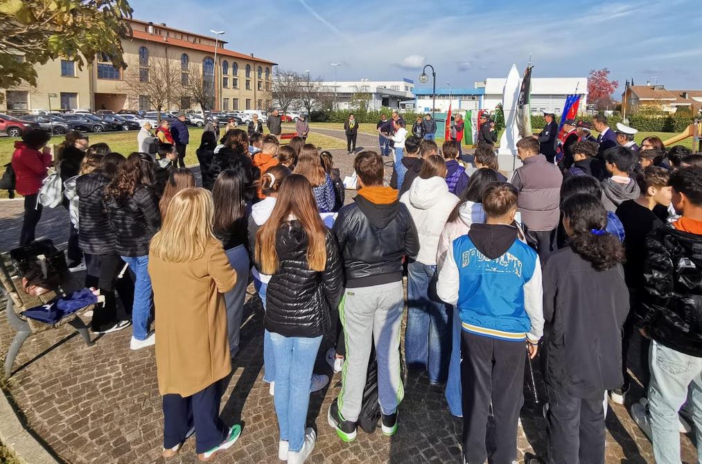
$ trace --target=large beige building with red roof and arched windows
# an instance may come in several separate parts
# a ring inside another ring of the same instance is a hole
[[[69,60],[49,61],[37,65],[36,87],[5,89],[2,110],[152,110],[145,90],[148,86],[138,84],[150,79],[173,82],[173,95],[167,93],[166,110],[201,110],[183,90],[192,86],[192,81],[214,88],[214,110],[270,108],[272,67],[276,63],[253,53],[231,51],[225,48],[226,41],[163,23],[129,22],[133,35],[122,39],[127,69],[115,68],[100,55],[83,69]],[[164,73],[168,79],[164,79]]]

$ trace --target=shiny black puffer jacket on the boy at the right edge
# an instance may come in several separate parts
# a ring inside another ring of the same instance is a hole
[[[646,247],[636,324],[661,345],[702,357],[702,236],[661,225]]]

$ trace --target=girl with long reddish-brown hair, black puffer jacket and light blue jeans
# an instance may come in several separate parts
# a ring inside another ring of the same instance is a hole
[[[275,358],[274,404],[280,430],[278,457],[302,463],[316,434],[305,430],[312,368],[329,308],[343,291],[341,262],[303,175],[292,174],[279,190],[270,219],[256,232],[256,263],[272,277],[265,329]]]

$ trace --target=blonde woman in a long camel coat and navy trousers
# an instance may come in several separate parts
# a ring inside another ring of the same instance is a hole
[[[181,190],[149,251],[164,458],[180,451],[193,425],[200,460],[229,448],[241,434],[240,425],[227,427],[219,418],[223,379],[232,371],[222,294],[237,283],[237,274],[213,234],[213,211],[207,190]]]

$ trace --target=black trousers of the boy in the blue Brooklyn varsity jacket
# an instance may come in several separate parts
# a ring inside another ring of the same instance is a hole
[[[491,463],[517,459],[517,421],[522,409],[524,342],[497,340],[461,331],[463,386],[463,455],[468,464],[483,464],[489,406],[495,419],[496,450]]]

